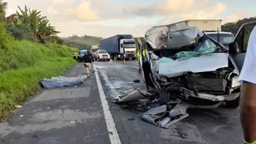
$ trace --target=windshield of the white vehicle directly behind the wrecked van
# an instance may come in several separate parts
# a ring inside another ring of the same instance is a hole
[[[215,41],[218,41],[217,33],[211,33],[207,34],[209,37],[215,39]],[[234,37],[232,34],[228,33],[219,33],[219,42],[223,45],[228,45],[229,43],[234,41]]]

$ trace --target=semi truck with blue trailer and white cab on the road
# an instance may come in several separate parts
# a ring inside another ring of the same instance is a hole
[[[136,43],[133,35],[115,35],[100,41],[100,48],[106,50],[110,54],[110,58],[116,60],[135,60]]]

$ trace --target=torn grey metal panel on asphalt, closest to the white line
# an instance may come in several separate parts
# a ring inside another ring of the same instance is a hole
[[[132,88],[130,90],[123,92],[122,94],[119,94],[116,98],[114,98],[114,102],[123,103],[128,101],[136,101],[142,98],[145,97],[139,92],[139,90]]]

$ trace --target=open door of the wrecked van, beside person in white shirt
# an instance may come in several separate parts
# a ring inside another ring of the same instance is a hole
[[[242,67],[244,65],[249,36],[255,26],[256,21],[243,24],[238,30],[234,42],[229,44],[230,56],[236,63],[239,73],[242,71]]]

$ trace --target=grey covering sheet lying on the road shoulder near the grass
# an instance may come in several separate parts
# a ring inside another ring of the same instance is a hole
[[[77,86],[87,79],[86,75],[79,75],[78,77],[51,77],[51,79],[41,79],[43,88],[56,88],[63,86]]]

